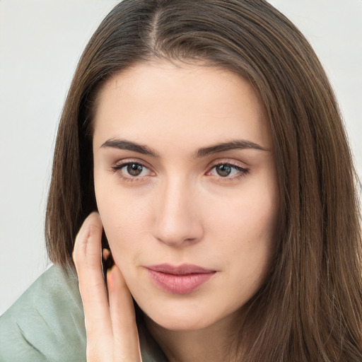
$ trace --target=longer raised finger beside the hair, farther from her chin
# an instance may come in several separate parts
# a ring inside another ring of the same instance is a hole
[[[112,356],[112,322],[101,268],[102,231],[98,213],[90,214],[81,226],[73,252],[84,308],[87,354],[93,358]],[[97,358],[94,361],[102,361]]]

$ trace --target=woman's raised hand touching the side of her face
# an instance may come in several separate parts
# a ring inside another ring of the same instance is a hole
[[[85,314],[87,362],[139,362],[132,296],[116,265],[107,273],[107,296],[100,260],[102,231],[100,216],[93,212],[81,226],[73,252]]]

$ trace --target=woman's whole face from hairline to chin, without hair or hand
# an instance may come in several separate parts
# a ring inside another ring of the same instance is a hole
[[[212,66],[138,64],[102,88],[95,196],[144,313],[173,330],[231,318],[274,252],[276,170],[262,105]]]

